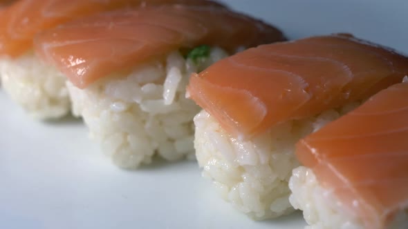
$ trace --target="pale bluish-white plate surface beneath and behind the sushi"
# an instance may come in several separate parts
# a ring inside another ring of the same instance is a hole
[[[408,1],[250,1],[230,6],[291,39],[353,32],[408,53]],[[193,162],[123,171],[75,120],[37,123],[0,92],[0,228],[302,228],[300,213],[254,222],[201,178]]]

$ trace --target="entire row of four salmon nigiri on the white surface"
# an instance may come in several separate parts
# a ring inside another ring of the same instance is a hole
[[[19,0],[0,23],[10,98],[37,119],[81,117],[122,168],[196,158],[253,219],[408,225],[408,57],[394,50],[285,41],[207,0]]]

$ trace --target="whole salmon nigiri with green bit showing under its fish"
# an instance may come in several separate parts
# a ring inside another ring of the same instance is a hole
[[[119,10],[41,32],[35,50],[68,78],[73,113],[116,165],[194,157],[185,98],[191,72],[242,48],[283,41],[277,28],[219,6]]]

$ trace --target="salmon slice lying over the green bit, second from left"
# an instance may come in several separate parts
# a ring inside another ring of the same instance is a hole
[[[72,21],[47,30],[35,50],[78,88],[140,62],[199,45],[230,52],[240,47],[283,41],[272,26],[214,6],[160,6],[120,10]]]

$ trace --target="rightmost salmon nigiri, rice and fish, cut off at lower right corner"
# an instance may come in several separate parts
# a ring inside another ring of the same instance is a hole
[[[309,228],[407,228],[408,83],[300,140],[290,202]]]

